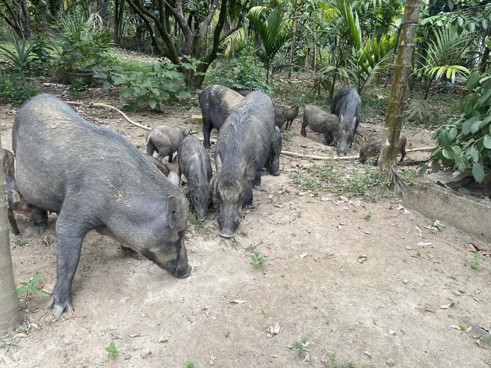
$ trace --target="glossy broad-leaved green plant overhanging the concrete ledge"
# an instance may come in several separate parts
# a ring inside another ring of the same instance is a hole
[[[491,77],[474,72],[467,80],[467,91],[457,107],[460,118],[433,134],[438,147],[430,158],[434,172],[440,170],[440,162],[460,172],[450,181],[471,175],[481,183],[485,171],[491,171]]]

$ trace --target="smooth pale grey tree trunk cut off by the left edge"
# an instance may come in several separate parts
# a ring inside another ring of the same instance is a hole
[[[2,142],[0,142],[0,149]],[[3,158],[0,155],[3,167]],[[15,289],[12,255],[10,253],[10,225],[7,215],[7,186],[5,174],[0,170],[0,336],[19,326],[19,300]]]

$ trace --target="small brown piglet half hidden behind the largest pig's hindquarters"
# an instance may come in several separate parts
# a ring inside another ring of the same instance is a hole
[[[10,151],[8,151],[10,152]],[[22,194],[20,194],[15,178],[10,174],[5,174],[5,182],[7,184],[7,200],[9,202],[9,223],[12,228],[12,233],[15,236],[20,235],[17,221],[15,221],[14,211],[29,217],[34,221],[34,228],[39,235],[44,234],[46,225],[48,224],[48,212],[37,208],[30,203]]]

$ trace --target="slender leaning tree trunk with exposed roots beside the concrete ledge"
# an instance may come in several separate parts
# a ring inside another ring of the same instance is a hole
[[[419,7],[419,0],[408,0],[404,10],[394,80],[390,90],[380,158],[378,159],[378,184],[373,187],[374,194],[401,196],[405,192],[404,183],[397,175],[396,160],[399,151],[400,127],[403,123],[404,100],[414,52],[414,37],[418,28]]]

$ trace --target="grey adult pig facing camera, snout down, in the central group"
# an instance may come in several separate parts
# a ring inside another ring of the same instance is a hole
[[[274,104],[262,92],[248,95],[218,133],[215,149],[217,221],[220,236],[231,238],[240,224],[240,208],[252,205],[252,188],[260,189],[261,169],[274,131]]]

